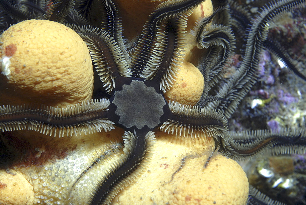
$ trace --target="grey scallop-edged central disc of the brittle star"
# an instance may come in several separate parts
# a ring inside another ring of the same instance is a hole
[[[126,128],[136,126],[137,129],[145,125],[155,128],[166,104],[162,94],[139,80],[132,80],[130,85],[123,85],[122,90],[115,91],[113,103],[117,106],[115,113],[120,116],[119,123]]]

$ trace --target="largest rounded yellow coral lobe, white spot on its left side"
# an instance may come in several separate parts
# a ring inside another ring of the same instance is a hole
[[[3,32],[0,42],[1,104],[66,106],[91,99],[91,57],[72,29],[26,20]]]

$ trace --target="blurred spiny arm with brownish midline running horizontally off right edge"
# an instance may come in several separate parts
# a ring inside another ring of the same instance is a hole
[[[230,132],[222,139],[225,152],[232,159],[254,158],[263,153],[305,154],[306,130],[281,129],[279,131],[256,130]]]

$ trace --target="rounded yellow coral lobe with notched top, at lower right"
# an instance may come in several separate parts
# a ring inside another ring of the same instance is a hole
[[[206,168],[207,156],[190,159],[176,174],[173,191],[169,195],[173,204],[246,204],[248,179],[240,165],[225,156],[216,156]],[[205,193],[205,196],[203,196]]]

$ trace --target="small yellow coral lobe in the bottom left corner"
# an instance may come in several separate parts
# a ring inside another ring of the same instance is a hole
[[[33,186],[23,174],[17,171],[14,174],[0,174],[0,204],[33,204]]]

